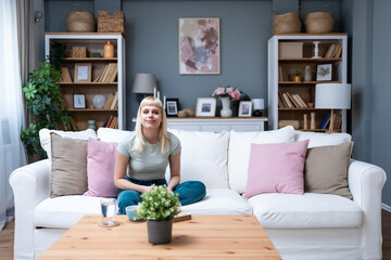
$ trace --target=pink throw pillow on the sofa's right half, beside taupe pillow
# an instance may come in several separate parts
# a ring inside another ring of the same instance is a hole
[[[310,140],[251,144],[244,198],[262,193],[304,193],[303,169]]]

